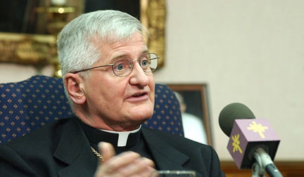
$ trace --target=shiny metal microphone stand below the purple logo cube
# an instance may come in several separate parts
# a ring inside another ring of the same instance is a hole
[[[283,177],[271,157],[262,148],[258,148],[253,155],[255,162],[252,164],[252,177],[265,177],[265,171],[271,177]]]

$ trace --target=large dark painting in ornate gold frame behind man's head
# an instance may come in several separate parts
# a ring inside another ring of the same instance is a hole
[[[85,12],[115,9],[139,17],[150,32],[150,37],[145,37],[149,51],[159,55],[159,67],[164,65],[166,1],[69,0],[62,7],[52,6],[51,2],[0,2],[0,63],[37,67],[54,64],[54,76],[61,77],[56,40],[62,25]],[[63,8],[65,13],[59,12]]]

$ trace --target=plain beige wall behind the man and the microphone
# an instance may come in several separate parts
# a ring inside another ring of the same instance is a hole
[[[218,115],[233,102],[272,123],[281,138],[276,160],[304,160],[303,7],[301,0],[167,0],[166,65],[156,81],[208,83],[222,160],[231,157]],[[35,72],[0,64],[0,82]]]

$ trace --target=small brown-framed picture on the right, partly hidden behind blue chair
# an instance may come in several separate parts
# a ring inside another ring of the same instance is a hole
[[[167,84],[180,102],[186,138],[212,146],[207,84]]]

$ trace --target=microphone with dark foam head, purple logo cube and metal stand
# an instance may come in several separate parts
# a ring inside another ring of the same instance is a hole
[[[227,150],[239,169],[252,168],[259,175],[266,170],[270,176],[282,176],[273,163],[280,139],[268,120],[256,119],[241,103],[225,106],[218,120],[222,131],[230,137]]]

